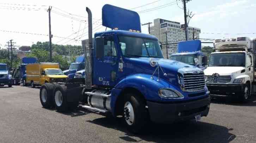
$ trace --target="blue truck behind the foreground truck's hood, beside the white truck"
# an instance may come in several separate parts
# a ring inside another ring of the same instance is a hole
[[[178,43],[178,53],[171,55],[172,60],[199,67],[204,70],[208,57],[201,52],[200,40],[189,40]]]

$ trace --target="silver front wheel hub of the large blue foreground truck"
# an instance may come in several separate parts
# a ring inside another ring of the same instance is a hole
[[[128,125],[132,125],[134,122],[134,110],[130,102],[124,104],[124,119]]]

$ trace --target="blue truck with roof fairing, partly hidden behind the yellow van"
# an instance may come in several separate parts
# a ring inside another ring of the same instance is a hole
[[[22,58],[22,63],[20,64],[20,66],[18,68],[13,69],[12,71],[12,84],[18,85],[22,83],[23,86],[26,86],[26,65],[36,62],[36,58]]]

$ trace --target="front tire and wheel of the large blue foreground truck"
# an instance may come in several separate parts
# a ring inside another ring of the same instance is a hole
[[[123,104],[123,119],[130,132],[138,134],[148,122],[144,100],[134,94],[126,94]]]

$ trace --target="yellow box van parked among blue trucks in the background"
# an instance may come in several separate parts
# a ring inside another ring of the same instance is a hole
[[[31,87],[51,82],[66,82],[68,76],[60,69],[59,63],[35,63],[26,65],[26,83]]]

